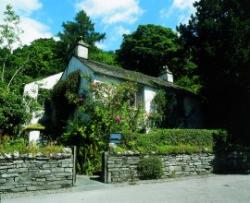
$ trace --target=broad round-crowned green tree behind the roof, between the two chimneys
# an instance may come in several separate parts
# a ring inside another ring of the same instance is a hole
[[[179,49],[178,37],[171,29],[157,25],[140,25],[124,35],[117,51],[118,61],[126,68],[158,76],[164,65],[171,68]]]

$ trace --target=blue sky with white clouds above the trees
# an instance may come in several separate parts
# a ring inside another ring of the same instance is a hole
[[[74,21],[84,10],[106,39],[96,44],[103,50],[120,47],[123,34],[134,32],[138,25],[157,24],[175,30],[187,23],[195,12],[195,0],[0,0],[0,24],[7,4],[20,16],[22,44],[38,38],[57,39],[62,23]]]

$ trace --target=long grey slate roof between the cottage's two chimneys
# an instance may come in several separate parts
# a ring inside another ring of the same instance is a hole
[[[132,81],[132,82],[149,85],[153,87],[162,86],[162,87],[170,87],[174,89],[183,89],[177,85],[174,85],[171,82],[161,80],[157,77],[148,76],[143,73],[126,70],[120,67],[107,65],[107,64],[100,63],[97,61],[92,61],[89,59],[86,60],[86,59],[79,58],[79,57],[76,57],[76,58],[97,74],[107,75],[107,76],[111,76],[114,78]]]

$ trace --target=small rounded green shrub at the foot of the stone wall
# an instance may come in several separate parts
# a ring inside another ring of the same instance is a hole
[[[162,176],[162,162],[156,157],[143,158],[138,163],[138,174],[140,179],[159,179]]]

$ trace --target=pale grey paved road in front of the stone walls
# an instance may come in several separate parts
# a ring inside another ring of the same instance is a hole
[[[216,175],[161,183],[4,199],[2,203],[250,203],[250,175]]]

